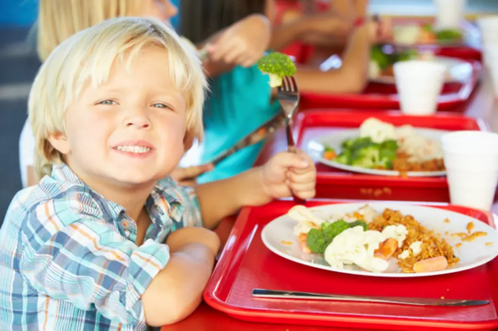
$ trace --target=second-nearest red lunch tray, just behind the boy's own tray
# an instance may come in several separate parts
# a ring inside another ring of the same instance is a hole
[[[441,130],[486,130],[482,121],[458,114],[409,116],[400,112],[330,111],[320,109],[300,113],[294,136],[298,148],[306,150],[310,140],[333,131],[358,128],[369,117],[395,126]],[[359,174],[317,163],[317,197],[329,199],[368,199],[449,202],[446,177],[398,177]]]

